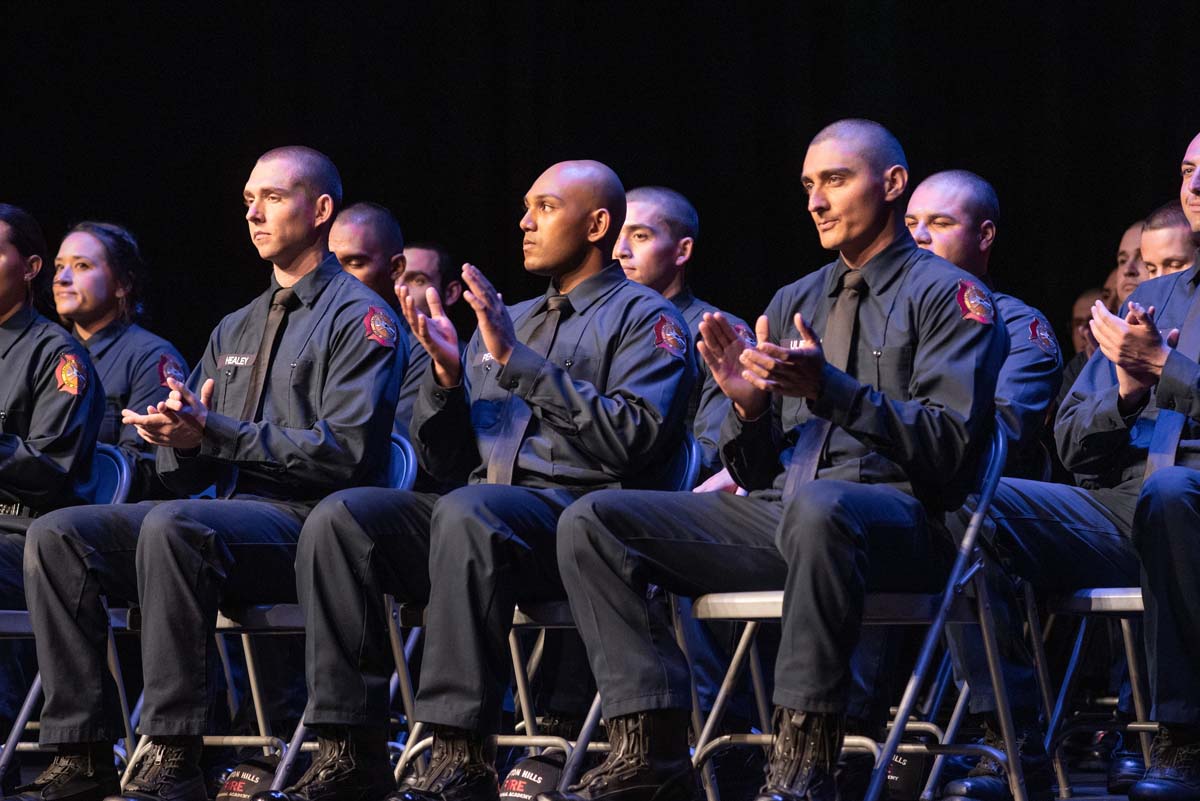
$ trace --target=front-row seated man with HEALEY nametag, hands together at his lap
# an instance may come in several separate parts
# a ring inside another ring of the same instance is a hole
[[[35,520],[25,584],[46,687],[50,767],[19,799],[100,801],[116,793],[115,687],[104,668],[101,596],[138,600],[150,749],[126,797],[203,801],[200,735],[217,669],[217,604],[295,600],[300,526],[331,492],[386,481],[407,343],[392,312],[328,249],[342,197],[334,164],[281,147],[244,189],[269,289],[226,317],[187,384],[127,409],[158,446],[158,472],[186,499],[91,506]]]

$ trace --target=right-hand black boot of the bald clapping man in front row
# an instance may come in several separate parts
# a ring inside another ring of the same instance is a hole
[[[421,776],[406,778],[388,801],[499,801],[492,760],[474,731],[448,725],[433,729],[433,755]]]

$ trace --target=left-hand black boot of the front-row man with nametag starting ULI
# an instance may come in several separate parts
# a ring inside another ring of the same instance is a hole
[[[694,801],[696,771],[688,751],[688,710],[660,709],[608,721],[612,751],[565,793],[538,801]]]

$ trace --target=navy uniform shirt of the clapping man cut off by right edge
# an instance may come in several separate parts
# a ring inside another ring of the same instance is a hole
[[[1156,308],[1154,320],[1165,336],[1182,329],[1192,303],[1200,302],[1196,281],[1200,265],[1183,272],[1147,281],[1128,302]],[[1121,309],[1126,313],[1127,305]],[[1200,469],[1200,354],[1171,350],[1163,374],[1146,402],[1130,415],[1117,410],[1117,373],[1104,353],[1097,350],[1058,409],[1055,436],[1058,454],[1068,470],[1092,476],[1088,486],[1115,487],[1146,471],[1146,451],[1154,433],[1158,409],[1174,409],[1188,417],[1176,463]]]

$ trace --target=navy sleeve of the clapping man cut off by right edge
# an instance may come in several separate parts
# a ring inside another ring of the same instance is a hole
[[[1128,453],[1138,415],[1117,411],[1117,374],[1097,349],[1058,408],[1055,440],[1063,466],[1072,472],[1102,475]]]

